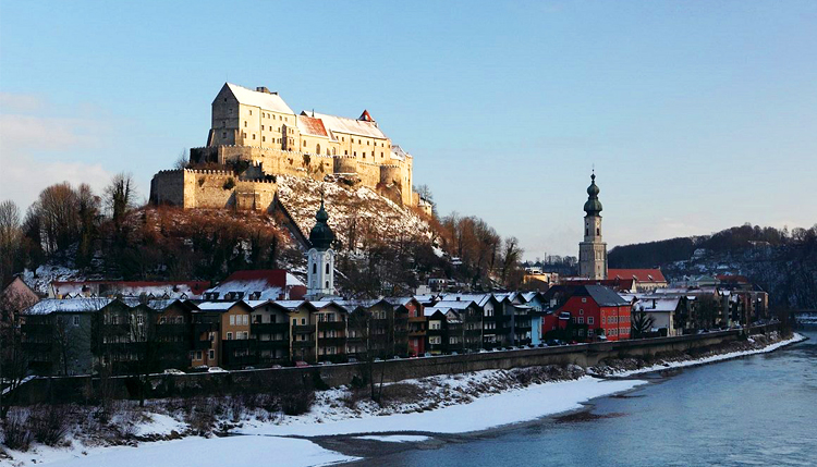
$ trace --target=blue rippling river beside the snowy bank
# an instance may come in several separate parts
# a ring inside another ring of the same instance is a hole
[[[356,465],[814,466],[817,331],[800,332],[810,339],[769,354],[643,376],[649,384],[580,414]]]

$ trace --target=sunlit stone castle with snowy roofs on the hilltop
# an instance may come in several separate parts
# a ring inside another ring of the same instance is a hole
[[[412,192],[413,157],[392,144],[368,111],[357,119],[295,114],[266,87],[225,83],[212,101],[207,146],[192,148],[190,162],[219,170],[161,171],[150,182],[151,202],[268,210],[276,198],[276,175],[336,176],[430,213],[430,206]]]

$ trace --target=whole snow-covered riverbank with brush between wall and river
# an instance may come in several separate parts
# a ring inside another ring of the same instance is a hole
[[[532,421],[578,409],[588,401],[630,391],[646,381],[635,374],[720,361],[772,352],[804,340],[800,334],[763,348],[706,355],[682,361],[658,361],[637,369],[603,367],[607,378],[586,376],[578,367],[542,367],[516,370],[486,370],[466,374],[406,380],[386,386],[392,394],[382,406],[346,388],[320,391],[310,410],[301,416],[282,416],[256,408],[236,417],[223,414],[218,433],[228,437],[191,435],[192,426],[179,413],[160,411],[160,402],[134,421],[134,433],[171,441],[109,446],[99,439],[74,430],[64,447],[33,446],[22,453],[0,454],[0,466],[103,466],[118,467],[197,465],[252,465],[272,455],[277,464],[317,466],[354,460],[304,439],[286,437],[346,435],[364,442],[417,443],[440,435],[485,431]],[[760,345],[760,342],[748,342]],[[589,371],[598,368],[589,369]],[[588,372],[589,372],[588,371]],[[549,381],[549,382],[548,382]],[[359,391],[359,390],[358,390]],[[413,397],[405,397],[414,394]],[[401,395],[402,397],[397,397]],[[154,413],[151,413],[151,410]],[[121,421],[126,422],[126,421]],[[185,434],[186,433],[186,434]],[[184,438],[186,437],[186,438]],[[330,446],[331,447],[331,446]],[[272,454],[273,453],[273,454]],[[364,454],[365,455],[365,454]]]

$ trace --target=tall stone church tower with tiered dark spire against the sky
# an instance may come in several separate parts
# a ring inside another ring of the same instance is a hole
[[[594,172],[587,187],[587,202],[584,204],[584,242],[578,244],[578,275],[588,279],[607,279],[607,244],[601,239],[598,192]]]

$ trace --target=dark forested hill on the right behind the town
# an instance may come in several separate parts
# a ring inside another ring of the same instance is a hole
[[[619,246],[609,261],[610,268],[660,267],[670,280],[742,274],[769,292],[773,305],[817,308],[817,224],[791,232],[745,224],[712,235]]]

